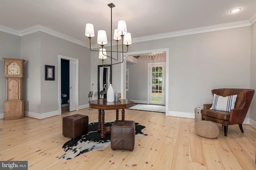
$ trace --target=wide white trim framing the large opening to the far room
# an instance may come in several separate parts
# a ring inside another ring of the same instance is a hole
[[[166,48],[166,49],[154,49],[154,50],[147,50],[147,51],[135,51],[135,52],[130,52],[130,53],[125,53],[124,54],[124,57],[128,57],[128,56],[136,56],[136,55],[144,55],[144,54],[147,54],[147,53],[156,53],[156,52],[159,52],[159,53],[166,53],[166,67],[165,67],[165,115],[169,115],[168,114],[168,110],[169,110],[169,48]],[[122,54],[121,54],[121,57],[122,57]],[[126,99],[126,88],[125,88],[125,83],[124,83],[124,77],[126,77],[125,75],[126,73],[126,59],[124,59],[124,62],[121,63],[121,92],[124,96],[124,99]]]

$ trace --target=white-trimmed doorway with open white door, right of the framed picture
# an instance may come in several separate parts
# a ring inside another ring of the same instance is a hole
[[[62,105],[62,97],[66,96],[65,94],[62,95],[62,59],[69,62],[69,84],[68,84],[68,90],[67,96],[69,96],[69,111],[78,110],[78,59],[66,57],[59,55],[58,56],[58,88],[59,88],[59,115],[61,115],[61,105]],[[66,79],[66,78],[65,78]]]

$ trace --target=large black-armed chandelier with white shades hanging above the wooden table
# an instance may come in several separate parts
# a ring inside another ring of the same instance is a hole
[[[111,8],[111,33],[110,36],[112,37],[112,8],[115,7],[113,3],[108,4],[108,6]],[[112,41],[110,41],[110,51],[106,51],[104,49],[104,45],[108,43],[107,40],[107,35],[105,30],[98,30],[98,37],[97,37],[97,43],[100,44],[101,48],[99,50],[92,50],[91,49],[91,38],[94,37],[94,26],[91,23],[86,23],[85,27],[85,35],[90,39],[90,50],[91,51],[98,51],[99,52],[99,59],[102,60],[102,65],[103,66],[112,66],[112,59],[118,61],[118,53],[122,53],[122,61],[119,63],[123,63],[124,61],[124,53],[128,52],[128,46],[132,44],[132,37],[131,34],[127,32],[127,27],[126,27],[126,21],[120,20],[118,21],[118,26],[117,29],[114,29],[114,36],[113,39],[116,40],[116,51],[112,51]],[[118,41],[122,40],[122,51],[118,51]],[[126,45],[127,51],[124,51],[123,44]],[[110,52],[110,56],[106,54],[106,52]],[[113,58],[112,53],[117,53],[117,57]],[[110,58],[111,63],[104,65],[104,59],[107,59],[107,57]],[[114,63],[114,64],[119,64],[119,63]],[[112,67],[111,67],[112,68]],[[112,74],[112,69],[110,70],[110,75]],[[111,81],[111,80],[110,80]]]

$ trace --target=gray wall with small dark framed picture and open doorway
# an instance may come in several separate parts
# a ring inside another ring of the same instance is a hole
[[[88,104],[90,92],[90,49],[41,32],[41,70],[44,65],[55,65],[55,81],[45,81],[41,72],[42,113],[56,109],[58,105],[58,55],[78,59],[78,105]],[[49,90],[50,89],[50,90]],[[52,95],[54,94],[54,96]],[[49,100],[52,98],[51,100]],[[52,101],[54,100],[54,102]],[[49,109],[49,106],[52,106]]]

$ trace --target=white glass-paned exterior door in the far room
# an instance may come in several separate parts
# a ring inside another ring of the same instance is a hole
[[[149,64],[149,104],[164,105],[164,68],[165,64]]]

